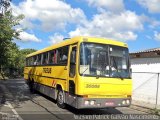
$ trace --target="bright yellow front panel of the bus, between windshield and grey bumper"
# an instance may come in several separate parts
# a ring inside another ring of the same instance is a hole
[[[81,77],[77,94],[97,98],[127,97],[132,93],[131,79]]]

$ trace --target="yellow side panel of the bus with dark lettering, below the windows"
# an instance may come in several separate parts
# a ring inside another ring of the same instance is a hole
[[[66,91],[68,73],[65,69],[66,66],[26,67],[24,78],[34,80],[34,82],[48,87],[56,87],[57,84],[60,84],[62,89]]]

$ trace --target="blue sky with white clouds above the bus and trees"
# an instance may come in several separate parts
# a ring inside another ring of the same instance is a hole
[[[126,42],[130,52],[160,47],[160,0],[12,0],[25,18],[21,48],[36,50],[74,36]]]

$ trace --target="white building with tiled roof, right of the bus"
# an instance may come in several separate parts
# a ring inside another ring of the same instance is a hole
[[[133,101],[160,106],[160,48],[130,53]],[[150,105],[150,106],[149,106]]]

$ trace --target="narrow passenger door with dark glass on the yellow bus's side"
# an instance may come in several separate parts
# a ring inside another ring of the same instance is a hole
[[[69,79],[68,79],[68,92],[69,95],[75,94],[75,77],[76,77],[76,56],[77,46],[73,45],[70,49],[70,63],[69,63]]]

